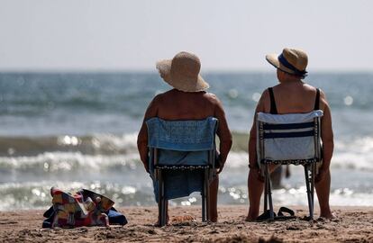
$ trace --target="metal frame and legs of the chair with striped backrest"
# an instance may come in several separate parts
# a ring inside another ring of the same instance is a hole
[[[305,167],[305,186],[308,200],[309,220],[314,220],[314,177],[316,175],[316,163],[321,161],[321,134],[320,134],[320,117],[314,118],[314,158],[296,159],[296,160],[268,160],[265,158],[264,146],[264,125],[263,121],[257,121],[259,128],[259,166],[261,173],[264,175],[264,212],[269,210],[269,220],[274,220],[271,181],[269,173],[269,164],[276,165],[302,165]],[[261,166],[263,165],[263,166]]]

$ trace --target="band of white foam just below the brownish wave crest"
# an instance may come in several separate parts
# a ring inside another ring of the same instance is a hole
[[[347,168],[373,172],[373,154],[355,152],[336,153],[332,157],[332,168]],[[241,171],[249,165],[246,152],[231,152],[225,164],[226,170]],[[67,174],[93,176],[101,174],[121,174],[142,169],[137,152],[118,155],[84,155],[80,152],[45,152],[31,157],[0,157],[0,175],[5,178],[14,175],[38,177],[40,175]]]

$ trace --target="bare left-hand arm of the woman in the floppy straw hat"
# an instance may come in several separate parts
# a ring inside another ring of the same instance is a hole
[[[137,148],[139,150],[140,158],[142,164],[144,164],[145,170],[149,172],[149,148],[148,148],[148,129],[146,127],[145,121],[151,117],[157,116],[158,113],[158,96],[156,96],[149,104],[145,115],[144,120],[142,121],[141,130],[137,137]]]

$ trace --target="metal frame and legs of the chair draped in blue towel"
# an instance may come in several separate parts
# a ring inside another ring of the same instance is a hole
[[[216,128],[218,123],[216,123]],[[216,134],[216,131],[215,131]],[[215,137],[215,136],[214,136]],[[159,226],[162,227],[166,225],[167,221],[167,202],[165,198],[165,181],[164,176],[168,170],[203,170],[204,171],[204,185],[201,192],[202,197],[202,221],[207,221],[211,219],[210,215],[210,182],[213,180],[213,174],[215,170],[215,139],[214,148],[206,150],[208,152],[208,164],[206,166],[163,166],[159,165],[159,148],[150,148],[150,163],[154,165],[155,179],[159,182],[159,199],[158,199],[158,211],[159,211]]]

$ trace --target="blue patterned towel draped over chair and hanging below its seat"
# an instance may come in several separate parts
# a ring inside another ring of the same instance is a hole
[[[165,121],[151,118],[148,126],[148,146],[159,148],[159,165],[205,166],[208,150],[215,148],[214,136],[217,119],[208,117],[196,121]],[[154,178],[154,165],[150,163],[150,177],[158,202],[158,182]],[[168,170],[164,176],[166,199],[188,196],[201,192],[201,170]]]

